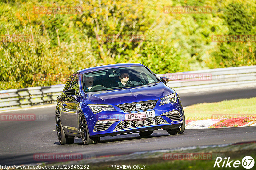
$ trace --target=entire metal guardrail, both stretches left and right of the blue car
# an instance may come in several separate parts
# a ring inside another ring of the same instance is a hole
[[[178,93],[256,86],[256,66],[157,74],[157,76],[170,78],[167,85]],[[56,102],[64,86],[65,84],[59,84],[47,87],[2,90],[0,91],[0,110]]]

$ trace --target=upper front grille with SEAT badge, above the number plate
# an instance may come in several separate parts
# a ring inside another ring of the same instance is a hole
[[[145,110],[145,109],[153,109],[156,105],[157,100],[148,100],[143,102],[134,102],[134,103],[125,103],[117,105],[120,109],[125,112],[137,111],[137,110]],[[141,107],[136,107],[139,105]]]

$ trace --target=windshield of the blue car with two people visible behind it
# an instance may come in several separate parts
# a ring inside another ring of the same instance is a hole
[[[82,74],[85,92],[123,89],[159,82],[146,67],[119,67]]]

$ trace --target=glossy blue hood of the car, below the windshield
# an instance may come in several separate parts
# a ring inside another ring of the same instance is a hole
[[[96,104],[118,105],[123,103],[156,100],[175,91],[164,83],[154,83],[125,89],[87,93],[86,98]]]

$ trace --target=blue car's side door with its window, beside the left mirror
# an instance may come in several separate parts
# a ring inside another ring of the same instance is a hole
[[[77,107],[78,107],[78,96],[80,94],[79,84],[78,84],[78,75],[74,74],[71,85],[69,89],[75,89],[75,96],[66,96],[66,101],[63,104],[63,114],[66,119],[64,128],[67,128],[70,133],[78,133],[78,116],[77,116]]]

